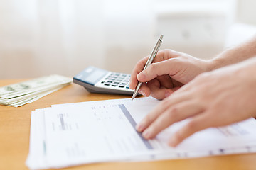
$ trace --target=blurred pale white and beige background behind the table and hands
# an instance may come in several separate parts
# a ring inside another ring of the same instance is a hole
[[[0,0],[0,77],[130,73],[159,35],[210,59],[256,33],[254,0]]]

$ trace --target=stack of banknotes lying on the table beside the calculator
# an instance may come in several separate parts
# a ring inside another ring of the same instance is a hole
[[[23,106],[70,84],[72,79],[53,74],[0,87],[0,104]]]

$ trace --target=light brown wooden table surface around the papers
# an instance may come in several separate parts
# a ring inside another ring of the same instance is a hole
[[[23,79],[0,80],[0,86]],[[71,84],[38,101],[14,108],[0,106],[0,169],[28,169],[31,111],[52,104],[129,98],[131,96],[90,94],[82,86]],[[73,166],[66,169],[256,169],[256,154],[235,154],[196,159],[176,159],[154,162],[117,162]]]

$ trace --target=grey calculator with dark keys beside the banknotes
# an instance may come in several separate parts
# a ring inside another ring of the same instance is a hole
[[[130,77],[130,74],[90,66],[73,77],[73,82],[91,93],[132,95],[134,91],[129,89]]]

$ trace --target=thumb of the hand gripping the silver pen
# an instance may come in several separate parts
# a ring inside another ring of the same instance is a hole
[[[137,74],[137,79],[141,82],[147,82],[161,75],[169,74],[173,76],[177,72],[175,65],[174,60],[171,59],[152,63]]]

